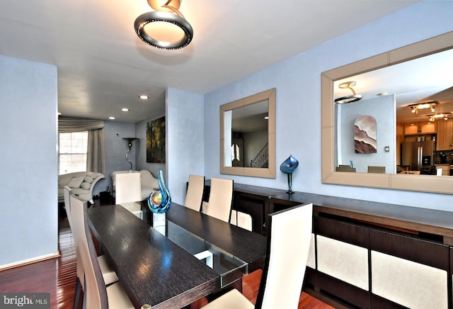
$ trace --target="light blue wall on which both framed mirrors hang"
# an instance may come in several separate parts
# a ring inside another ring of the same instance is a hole
[[[219,174],[219,106],[275,87],[277,168],[289,154],[300,162],[292,189],[453,210],[451,195],[321,184],[321,72],[451,31],[452,13],[453,1],[423,1],[206,94],[205,175],[287,188],[279,171],[276,179]]]

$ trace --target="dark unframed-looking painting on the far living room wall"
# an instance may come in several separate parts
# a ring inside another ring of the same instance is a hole
[[[147,124],[147,162],[165,163],[165,117]]]

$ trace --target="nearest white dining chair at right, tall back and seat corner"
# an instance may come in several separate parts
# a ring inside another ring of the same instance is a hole
[[[297,308],[309,256],[312,216],[312,204],[270,214],[268,249],[254,306],[233,289],[203,308]]]

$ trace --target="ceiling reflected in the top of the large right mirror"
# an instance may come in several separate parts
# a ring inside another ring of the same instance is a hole
[[[338,84],[355,81],[352,87],[363,99],[375,98],[384,92],[396,94],[396,120],[401,123],[428,121],[430,109],[412,113],[414,103],[437,101],[435,113],[450,113],[453,118],[453,50],[421,57],[408,62],[384,67],[335,82],[335,98],[352,94],[350,89],[339,89]],[[360,101],[356,102],[357,104]]]

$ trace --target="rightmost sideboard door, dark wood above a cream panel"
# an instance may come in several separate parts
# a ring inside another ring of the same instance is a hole
[[[448,308],[449,247],[377,230],[369,237],[373,295],[409,308]]]

